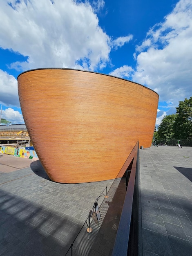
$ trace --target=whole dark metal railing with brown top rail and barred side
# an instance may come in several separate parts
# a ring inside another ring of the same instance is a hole
[[[126,170],[127,191],[123,204],[120,222],[116,234],[116,240],[112,256],[136,256],[138,255],[138,198],[139,198],[139,150],[138,142],[134,147],[132,166]],[[133,151],[132,151],[133,153]],[[132,154],[133,155],[133,154]],[[131,167],[131,168],[130,168]]]

